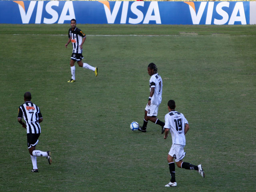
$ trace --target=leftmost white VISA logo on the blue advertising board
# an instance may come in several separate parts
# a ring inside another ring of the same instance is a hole
[[[64,7],[62,8],[62,12],[60,16],[58,12],[54,10],[53,6],[59,6],[59,1],[49,1],[46,3],[44,7],[44,1],[30,1],[28,6],[28,10],[25,10],[24,2],[23,1],[13,1],[18,4],[20,10],[20,16],[23,24],[28,24],[32,13],[36,7],[36,21],[35,24],[41,24],[42,22],[42,13],[43,10],[46,11],[48,14],[51,15],[51,18],[43,18],[43,23],[45,24],[53,24],[58,21],[59,24],[63,24],[65,20],[71,20],[75,17],[74,7],[72,1],[66,1]],[[69,13],[69,15],[67,15]]]

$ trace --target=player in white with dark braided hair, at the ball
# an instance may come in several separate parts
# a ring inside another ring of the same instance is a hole
[[[162,89],[163,83],[162,78],[157,73],[157,67],[154,63],[148,65],[148,74],[151,76],[149,80],[150,94],[148,97],[148,104],[145,108],[144,122],[143,126],[139,127],[138,130],[146,132],[148,120],[158,124],[162,127],[162,134],[164,133],[164,122],[160,121],[157,116],[158,108],[162,102]]]

